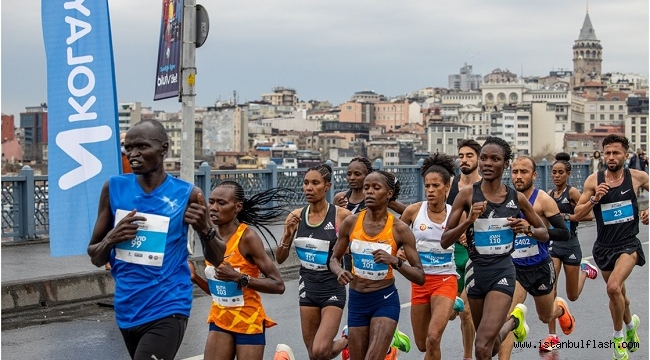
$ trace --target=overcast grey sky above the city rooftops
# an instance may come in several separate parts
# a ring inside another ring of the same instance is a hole
[[[177,99],[152,100],[161,5],[109,2],[117,98],[177,111]],[[559,0],[203,5],[211,29],[197,49],[197,106],[229,100],[233,90],[239,102],[258,100],[276,86],[296,89],[301,100],[333,105],[362,90],[404,95],[447,87],[448,75],[464,63],[482,76],[495,68],[518,76],[522,69],[524,76],[573,70],[571,48],[586,14],[585,3]],[[18,117],[26,106],[47,101],[40,2],[9,2],[2,10],[1,110]],[[648,2],[591,1],[589,16],[603,46],[603,73],[647,78]],[[14,33],[21,35],[8,35]],[[31,71],[15,71],[21,68]]]

